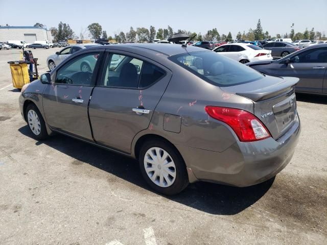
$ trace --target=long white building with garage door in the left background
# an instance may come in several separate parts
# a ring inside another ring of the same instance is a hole
[[[0,42],[7,42],[8,40],[19,40],[27,43],[44,40],[52,42],[53,37],[50,30],[40,27],[0,27]]]

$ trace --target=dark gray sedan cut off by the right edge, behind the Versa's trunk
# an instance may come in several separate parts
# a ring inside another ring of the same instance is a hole
[[[270,76],[299,78],[296,92],[327,94],[327,44],[312,45],[272,62],[246,65]]]

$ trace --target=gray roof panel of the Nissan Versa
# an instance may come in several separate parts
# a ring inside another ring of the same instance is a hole
[[[181,44],[166,44],[162,45],[160,43],[124,43],[124,44],[116,44],[116,45],[102,45],[101,47],[95,46],[91,48],[103,48],[103,49],[113,49],[113,50],[122,50],[122,51],[130,51],[133,50],[141,50],[144,49],[144,51],[153,51],[156,53],[165,54],[167,56],[172,55],[178,55],[182,53],[188,53],[188,52],[211,52],[209,50],[205,50],[201,47],[195,47],[188,45],[187,47],[182,47]]]

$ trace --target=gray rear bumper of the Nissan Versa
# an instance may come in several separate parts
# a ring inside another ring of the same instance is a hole
[[[264,182],[292,159],[301,131],[299,118],[281,138],[240,142],[223,152],[177,146],[198,180],[245,187]]]

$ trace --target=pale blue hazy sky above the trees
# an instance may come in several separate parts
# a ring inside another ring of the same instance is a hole
[[[99,22],[108,36],[120,31],[126,33],[131,26],[136,29],[152,25],[157,30],[170,25],[174,31],[186,29],[201,34],[217,28],[220,35],[230,31],[235,37],[239,31],[255,29],[260,18],[264,31],[273,36],[289,33],[292,23],[295,32],[314,27],[327,36],[327,0],[56,0],[35,6],[32,3],[35,1],[0,0],[0,6],[7,6],[2,8],[0,24],[33,26],[40,22],[50,28],[63,21],[79,35],[88,24]]]

